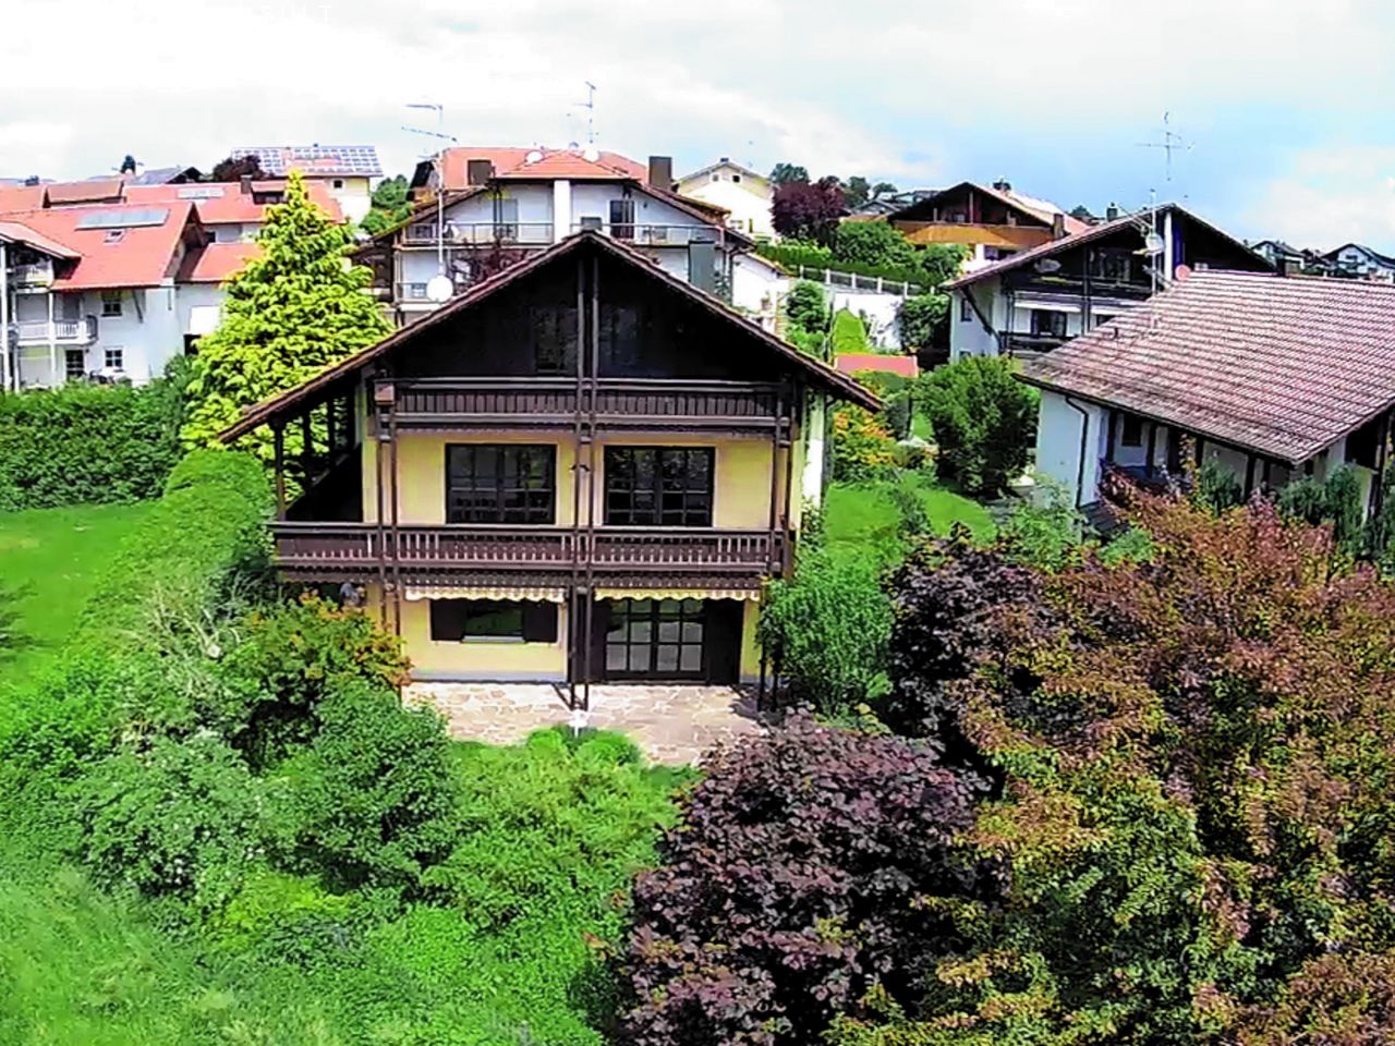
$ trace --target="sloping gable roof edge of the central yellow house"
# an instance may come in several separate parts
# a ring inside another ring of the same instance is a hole
[[[686,297],[688,300],[693,301],[695,304],[709,311],[711,315],[718,317],[724,322],[730,324],[734,332],[752,338],[757,343],[766,346],[769,350],[781,356],[788,364],[802,371],[810,381],[813,381],[817,385],[822,385],[826,392],[830,392],[836,396],[840,396],[841,399],[857,403],[858,406],[866,407],[868,410],[880,409],[882,406],[880,400],[869,389],[859,385],[852,378],[840,374],[838,371],[836,371],[834,368],[829,367],[824,363],[820,363],[817,360],[805,356],[788,342],[776,338],[764,328],[751,322],[745,317],[741,317],[739,314],[727,308],[727,305],[724,305],[718,298],[714,298],[713,296],[700,291],[696,287],[691,286],[689,283],[665,272],[663,268],[653,264],[651,261],[649,261],[649,258],[639,254],[638,251],[629,247],[624,247],[615,240],[603,236],[597,232],[587,230],[576,233],[575,236],[569,236],[561,243],[548,247],[545,251],[533,255],[527,261],[522,261],[518,265],[512,265],[508,269],[504,269],[502,272],[497,273],[495,276],[474,285],[463,294],[452,298],[445,305],[428,314],[423,319],[418,319],[410,326],[405,326],[400,331],[388,335],[377,344],[371,344],[365,349],[359,350],[346,360],[342,360],[340,363],[328,367],[326,370],[317,374],[314,378],[310,378],[301,385],[297,385],[294,389],[290,389],[289,392],[283,392],[279,396],[273,396],[272,399],[258,403],[257,406],[248,409],[239,421],[236,421],[234,424],[229,425],[222,432],[219,432],[218,438],[222,439],[225,444],[237,439],[240,435],[252,431],[258,425],[266,424],[273,417],[287,413],[297,403],[314,396],[315,392],[325,388],[326,385],[331,385],[335,381],[347,377],[349,374],[357,371],[363,365],[378,358],[379,356],[392,351],[393,349],[398,349],[399,346],[406,344],[414,340],[416,338],[420,338],[423,332],[448,322],[452,317],[463,312],[465,310],[470,308],[472,305],[480,301],[484,301],[490,296],[516,283],[519,279],[527,276],[529,273],[544,268],[545,265],[557,261],[558,258],[564,258],[575,251],[583,251],[583,250],[601,251],[614,258],[618,258],[626,265],[643,272],[657,283],[667,286],[675,293]]]

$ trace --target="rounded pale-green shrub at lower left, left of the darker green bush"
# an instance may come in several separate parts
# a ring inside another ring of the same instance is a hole
[[[261,852],[261,789],[212,736],[124,746],[82,780],[77,812],[93,874],[146,895],[213,908]]]

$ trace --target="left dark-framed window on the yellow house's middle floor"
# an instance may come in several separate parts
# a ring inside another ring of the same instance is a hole
[[[446,523],[551,523],[557,448],[456,444],[445,449]]]

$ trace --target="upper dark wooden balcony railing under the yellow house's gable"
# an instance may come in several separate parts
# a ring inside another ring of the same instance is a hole
[[[780,388],[760,382],[601,378],[579,391],[575,378],[424,378],[395,389],[403,428],[562,428],[593,396],[607,428],[749,431],[780,417]]]

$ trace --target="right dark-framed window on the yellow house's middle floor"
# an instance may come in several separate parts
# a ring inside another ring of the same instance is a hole
[[[710,446],[605,448],[608,526],[710,527]]]

